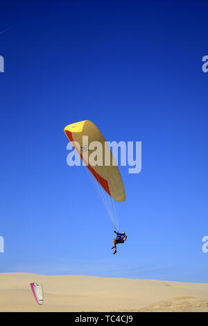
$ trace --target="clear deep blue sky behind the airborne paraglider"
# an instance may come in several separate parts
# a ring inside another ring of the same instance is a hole
[[[0,272],[208,282],[206,1],[1,4]],[[9,29],[10,28],[10,29]],[[141,141],[113,228],[64,127]]]

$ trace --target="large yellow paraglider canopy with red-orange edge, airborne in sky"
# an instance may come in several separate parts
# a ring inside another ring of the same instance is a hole
[[[83,160],[89,171],[92,173],[101,187],[103,187],[103,189],[107,192],[107,194],[109,194],[116,201],[124,201],[125,189],[123,187],[123,181],[121,179],[119,168],[116,165],[109,146],[105,142],[105,138],[95,124],[89,120],[72,123],[64,128],[64,132],[69,141],[71,141],[73,147],[76,149],[78,155],[80,155],[81,160]],[[88,137],[88,144],[92,143],[92,141],[98,141],[102,145],[102,152],[99,152],[99,150],[97,151],[100,158],[102,158],[102,165],[92,166],[87,163],[88,160],[85,159],[85,155],[89,157],[90,154],[94,152],[94,149],[90,149],[89,146],[86,151],[83,151],[83,148],[85,148],[85,144],[83,144],[83,136]],[[77,146],[76,143],[78,143],[79,146]],[[108,165],[105,164],[105,157],[110,158]]]

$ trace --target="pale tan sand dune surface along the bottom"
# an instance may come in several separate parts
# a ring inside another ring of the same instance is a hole
[[[43,284],[42,306],[31,282]],[[0,273],[0,311],[208,311],[208,284]]]

